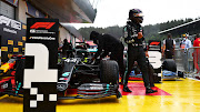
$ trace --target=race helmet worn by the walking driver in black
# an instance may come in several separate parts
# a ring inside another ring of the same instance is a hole
[[[143,22],[142,11],[140,9],[131,9],[129,11],[129,19],[137,23],[142,23]]]

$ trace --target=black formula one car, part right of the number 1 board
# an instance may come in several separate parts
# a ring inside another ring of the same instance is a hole
[[[80,42],[79,42],[80,43]],[[82,44],[82,43],[81,43]],[[86,61],[86,55],[87,61]],[[119,68],[112,60],[98,60],[91,64],[90,52],[86,48],[76,49],[76,58],[61,59],[59,65],[59,99],[94,99],[121,94]],[[77,89],[77,96],[67,96],[68,89]]]

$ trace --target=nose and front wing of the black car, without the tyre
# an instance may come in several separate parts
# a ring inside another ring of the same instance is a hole
[[[61,95],[58,99],[96,99],[110,95],[120,98],[118,81],[117,83],[102,82],[99,64],[86,64],[79,58],[69,58],[62,60],[59,68],[57,89]],[[77,95],[67,96],[67,89],[77,89]]]

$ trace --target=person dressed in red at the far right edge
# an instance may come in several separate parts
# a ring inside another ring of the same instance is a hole
[[[200,47],[199,34],[196,35],[196,40],[193,41],[193,47]],[[199,73],[199,71],[200,71],[200,68],[199,68],[199,63],[200,63],[200,48],[194,48],[193,63],[194,63],[194,67],[197,69],[197,73]]]

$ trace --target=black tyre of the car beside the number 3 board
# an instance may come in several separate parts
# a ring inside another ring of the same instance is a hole
[[[177,72],[177,64],[176,64],[174,60],[172,60],[172,59],[164,60],[164,62],[162,63],[162,70]]]

